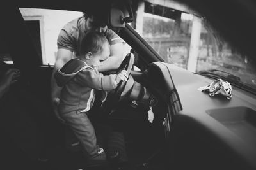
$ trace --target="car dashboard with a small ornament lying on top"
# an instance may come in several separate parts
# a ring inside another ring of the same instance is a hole
[[[174,107],[166,116],[166,131],[177,167],[255,169],[255,95],[232,86],[231,99],[211,97],[198,88],[214,79],[174,64],[154,62],[146,73],[151,89],[159,89],[160,96],[171,96],[168,102]]]

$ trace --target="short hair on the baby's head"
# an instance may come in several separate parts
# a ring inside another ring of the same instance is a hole
[[[88,52],[91,52],[93,54],[97,52],[102,52],[102,46],[106,42],[108,43],[108,40],[104,36],[104,34],[98,31],[89,31],[84,35],[81,41],[80,54],[85,55]]]

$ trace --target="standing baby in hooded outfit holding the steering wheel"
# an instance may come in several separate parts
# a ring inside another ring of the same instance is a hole
[[[81,41],[80,56],[68,61],[56,71],[57,85],[63,87],[58,112],[81,143],[88,160],[106,160],[106,154],[96,144],[96,136],[88,111],[93,105],[95,90],[112,90],[127,81],[127,71],[104,76],[97,67],[110,55],[106,37],[97,31],[87,32]]]

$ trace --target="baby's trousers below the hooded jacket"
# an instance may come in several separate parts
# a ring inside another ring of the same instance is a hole
[[[88,118],[88,112],[80,113],[72,111],[70,113],[61,114],[60,117],[65,120],[65,124],[76,135],[85,155],[89,158],[97,157],[97,155],[99,155],[99,146],[96,143],[95,130]]]

